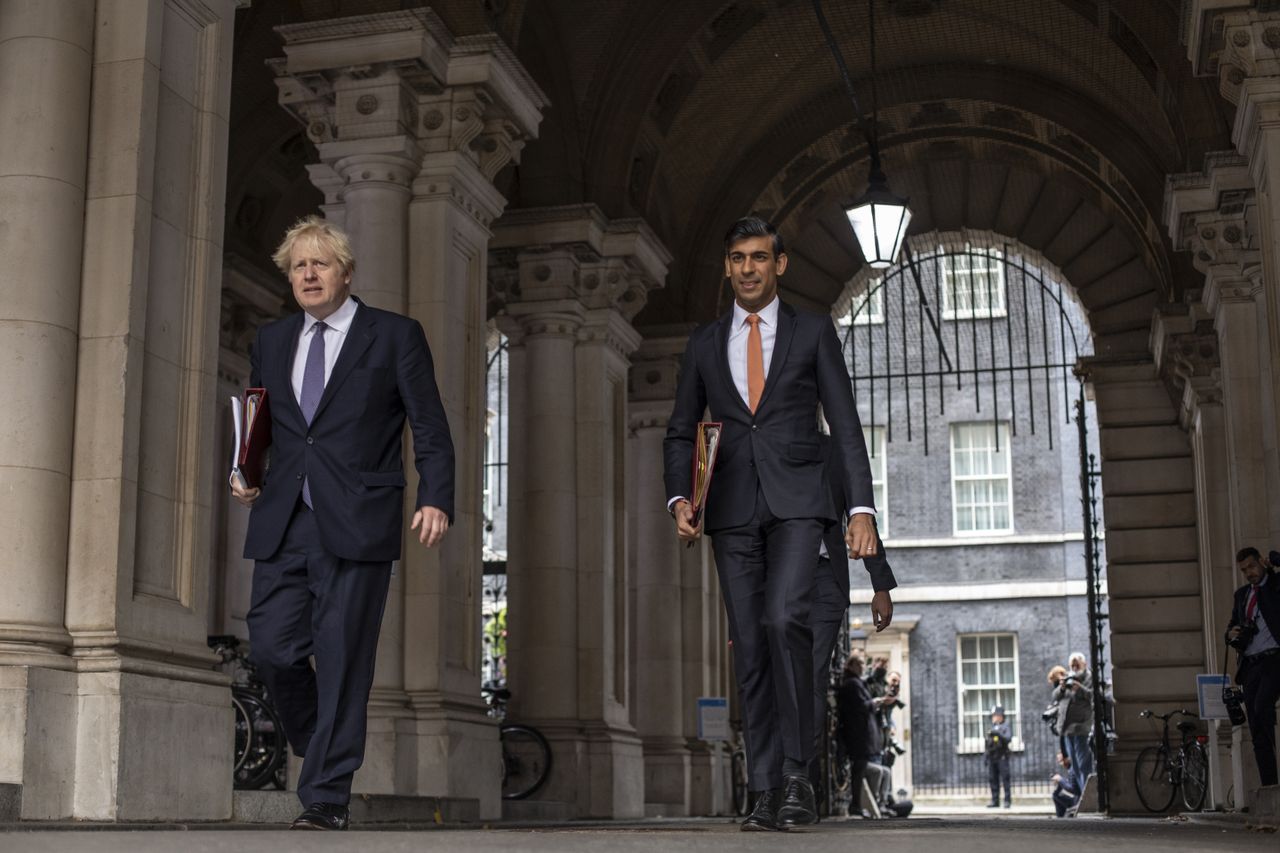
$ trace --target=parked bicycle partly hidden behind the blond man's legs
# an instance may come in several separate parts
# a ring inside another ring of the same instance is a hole
[[[234,788],[257,790],[268,784],[284,790],[287,777],[284,726],[271,707],[266,685],[248,656],[239,648],[239,638],[218,634],[209,638],[209,647],[223,658],[232,675],[232,707],[236,710]]]

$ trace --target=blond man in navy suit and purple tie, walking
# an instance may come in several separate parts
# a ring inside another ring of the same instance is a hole
[[[310,216],[274,259],[302,313],[257,333],[251,383],[266,388],[271,464],[261,489],[232,483],[253,507],[250,654],[303,757],[292,829],[344,830],[401,556],[404,424],[419,475],[411,526],[428,547],[453,515],[453,443],[422,327],[351,296],[346,234]]]

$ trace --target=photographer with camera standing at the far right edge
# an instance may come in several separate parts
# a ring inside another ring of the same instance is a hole
[[[1226,642],[1240,665],[1235,681],[1244,688],[1244,712],[1253,739],[1253,760],[1262,785],[1276,784],[1276,701],[1280,699],[1280,581],[1272,569],[1280,553],[1263,560],[1257,548],[1242,548],[1235,564],[1248,581],[1235,590]]]

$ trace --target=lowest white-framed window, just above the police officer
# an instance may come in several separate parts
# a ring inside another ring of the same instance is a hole
[[[1012,734],[1010,747],[1021,749],[1021,706],[1018,694],[1018,635],[960,634],[956,637],[960,694],[960,752],[982,752],[991,729],[991,710],[1001,706]]]

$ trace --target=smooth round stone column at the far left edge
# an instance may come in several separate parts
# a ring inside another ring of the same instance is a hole
[[[6,818],[72,813],[76,676],[64,622],[93,4],[0,6],[0,789]]]

